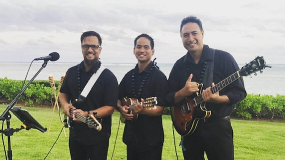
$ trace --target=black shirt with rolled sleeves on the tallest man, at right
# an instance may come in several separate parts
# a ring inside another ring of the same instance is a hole
[[[201,82],[201,71],[205,61],[213,60],[210,53],[211,50],[209,49],[209,46],[204,45],[198,64],[194,62],[190,53],[186,53],[186,55],[176,61],[168,78],[169,93],[166,96],[166,100],[170,102],[171,105],[174,105],[175,93],[185,86],[186,80],[189,77],[187,65],[189,66],[188,68],[190,69],[190,73],[193,74],[192,81]],[[217,49],[215,50],[213,73],[213,82],[215,84],[224,80],[237,70],[239,70],[239,67],[235,59],[229,53]],[[222,89],[219,94],[227,95],[231,103],[207,103],[207,109],[211,110],[210,118],[219,118],[230,115],[232,104],[237,103],[246,97],[247,93],[244,88],[243,79],[239,78],[229,86]]]

